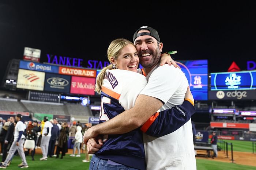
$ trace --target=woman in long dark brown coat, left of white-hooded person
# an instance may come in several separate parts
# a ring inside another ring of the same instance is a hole
[[[68,152],[68,132],[69,132],[68,124],[67,122],[64,122],[61,125],[58,145],[56,149],[56,155],[57,155],[56,158],[59,158],[60,151],[61,151],[60,159],[63,159],[63,156],[65,156],[65,154]]]

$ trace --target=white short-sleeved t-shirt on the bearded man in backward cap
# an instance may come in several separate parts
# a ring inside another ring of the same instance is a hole
[[[148,84],[140,94],[165,103],[160,109],[181,105],[188,87],[184,73],[174,66],[155,67],[147,75]],[[155,138],[143,134],[147,169],[196,170],[191,120],[171,134]]]

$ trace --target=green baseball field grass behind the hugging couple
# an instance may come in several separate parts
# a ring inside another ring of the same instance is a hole
[[[234,151],[241,151],[241,152],[251,152],[252,153],[252,142],[249,141],[238,141],[238,140],[224,140],[228,143],[233,143],[233,150]],[[219,140],[218,145],[222,145],[222,140]],[[229,145],[230,150],[230,145]],[[64,156],[63,159],[56,159],[48,158],[47,161],[39,161],[39,159],[42,157],[40,154],[41,150],[37,149],[35,155],[35,161],[31,160],[31,156],[27,156],[27,163],[29,165],[30,169],[34,170],[89,170],[89,162],[82,162],[84,159],[84,153],[81,153],[81,157],[70,157],[69,154],[71,154],[72,149],[69,149],[68,153]],[[81,151],[82,152],[82,151]],[[219,151],[223,152],[223,151]],[[1,156],[0,156],[1,159]],[[156,159],[157,161],[157,159]],[[19,167],[17,166],[19,163],[21,163],[21,159],[19,156],[14,156],[12,159],[12,162],[10,166],[7,167],[7,169],[10,170],[17,170]],[[248,165],[240,165],[237,163],[231,163],[230,162],[220,162],[215,159],[202,159],[196,157],[196,165],[197,170],[255,170],[255,166],[248,166]]]

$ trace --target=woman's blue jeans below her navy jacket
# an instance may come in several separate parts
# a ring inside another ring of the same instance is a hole
[[[90,161],[90,170],[138,170],[125,165],[112,165],[108,161],[98,158],[93,154]]]

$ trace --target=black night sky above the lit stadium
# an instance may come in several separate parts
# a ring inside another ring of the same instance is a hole
[[[41,49],[41,62],[46,54],[108,61],[113,39],[132,40],[145,25],[158,30],[163,52],[208,59],[209,73],[256,61],[256,1],[135,2],[0,0],[0,78],[10,59],[23,59],[24,47]]]

